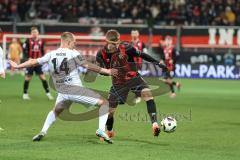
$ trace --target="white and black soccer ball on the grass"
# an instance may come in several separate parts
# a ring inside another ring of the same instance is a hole
[[[177,128],[177,121],[173,117],[166,117],[161,121],[161,126],[164,132],[171,133]]]

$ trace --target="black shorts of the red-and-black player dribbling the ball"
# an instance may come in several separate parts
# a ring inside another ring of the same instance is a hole
[[[133,91],[135,94],[139,95],[144,88],[149,88],[149,86],[140,76],[124,84],[113,85],[108,97],[110,107],[114,108],[117,107],[118,104],[124,104],[128,98],[129,91]]]

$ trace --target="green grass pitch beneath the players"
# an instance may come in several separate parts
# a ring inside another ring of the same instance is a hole
[[[84,122],[57,120],[41,142],[32,142],[52,109],[35,77],[31,101],[23,101],[21,76],[0,80],[0,160],[238,160],[240,157],[240,83],[224,80],[181,79],[183,88],[175,99],[155,97],[161,115],[178,117],[176,132],[152,136],[146,122],[146,106],[118,108],[114,144],[95,136],[97,119]],[[107,90],[109,78],[87,86]],[[85,110],[74,105],[73,111]],[[136,115],[140,115],[140,118]],[[159,118],[160,119],[160,118]]]

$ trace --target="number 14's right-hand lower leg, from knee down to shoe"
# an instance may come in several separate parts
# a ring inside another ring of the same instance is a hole
[[[100,99],[98,102],[99,108],[99,128],[96,131],[96,135],[102,138],[107,143],[113,143],[111,138],[105,132],[105,124],[109,114],[109,103],[107,100]]]

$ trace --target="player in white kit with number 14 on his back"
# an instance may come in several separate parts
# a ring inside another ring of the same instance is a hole
[[[58,92],[54,109],[48,113],[41,132],[33,137],[33,141],[40,141],[47,134],[48,128],[56,120],[56,117],[58,117],[64,109],[69,109],[72,102],[76,102],[100,106],[99,129],[96,131],[96,135],[102,137],[106,142],[112,143],[111,139],[105,133],[109,102],[92,90],[82,87],[77,68],[78,66],[83,66],[91,71],[113,76],[117,76],[117,70],[104,69],[88,63],[83,60],[78,51],[74,50],[74,46],[74,35],[70,32],[64,32],[61,35],[61,46],[57,50],[51,51],[41,58],[30,59],[19,65],[10,61],[11,66],[16,69],[48,63],[53,83]],[[75,89],[78,90],[78,95]]]

